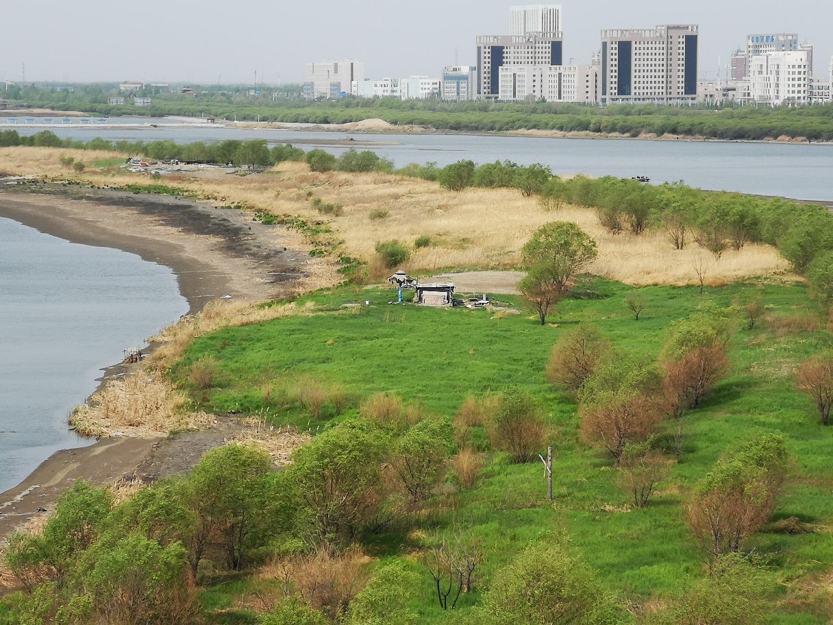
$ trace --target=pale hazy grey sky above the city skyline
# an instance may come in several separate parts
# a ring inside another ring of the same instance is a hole
[[[512,0],[38,0],[2,2],[0,79],[300,82],[304,63],[353,57],[367,77],[438,76],[474,62],[474,37],[509,31]],[[833,54],[830,0],[565,0],[564,60],[590,62],[601,28],[698,23],[714,78],[749,32],[798,32],[816,75]],[[754,7],[754,8],[752,8]]]

